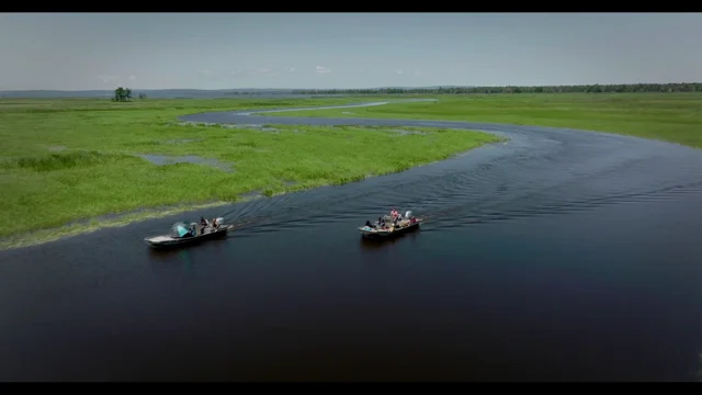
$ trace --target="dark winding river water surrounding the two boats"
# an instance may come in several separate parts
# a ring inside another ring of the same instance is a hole
[[[1,380],[695,380],[702,153],[529,126],[256,123],[510,140],[194,213],[249,225],[185,250],[141,242],[181,215],[2,251]],[[428,222],[361,241],[355,227],[392,206]]]

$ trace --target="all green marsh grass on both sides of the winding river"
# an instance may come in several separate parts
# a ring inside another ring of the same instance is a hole
[[[18,224],[0,230],[0,248],[254,195],[352,182],[499,140],[488,134],[450,129],[178,121],[180,115],[200,112],[293,110],[417,97],[0,100],[0,188],[4,191],[0,218]],[[265,115],[569,127],[702,148],[702,94],[694,92],[421,98],[439,101]]]

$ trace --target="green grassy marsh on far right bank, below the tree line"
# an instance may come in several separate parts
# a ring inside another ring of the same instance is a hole
[[[367,95],[365,100],[373,100],[371,98]],[[439,102],[265,115],[473,121],[569,127],[702,148],[701,93],[472,94],[440,95],[438,99]]]

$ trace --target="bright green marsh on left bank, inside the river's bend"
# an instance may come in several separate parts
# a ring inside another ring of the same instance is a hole
[[[251,191],[271,195],[401,171],[497,140],[477,132],[240,128],[177,120],[206,111],[363,101],[369,99],[0,101],[0,221],[12,224],[0,228],[0,248],[231,202]],[[159,166],[143,155],[190,156],[195,162]],[[210,162],[197,163],[202,158]],[[160,208],[135,212],[145,207]],[[114,213],[127,214],[75,223]]]

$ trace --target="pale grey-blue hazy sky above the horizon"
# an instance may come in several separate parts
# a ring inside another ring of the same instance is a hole
[[[4,13],[0,90],[702,81],[702,13]]]

